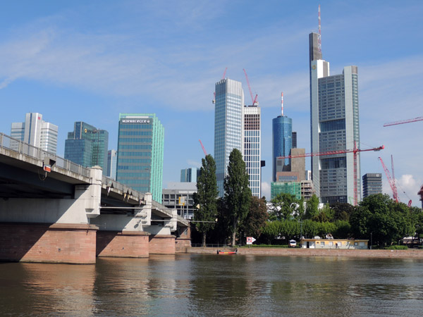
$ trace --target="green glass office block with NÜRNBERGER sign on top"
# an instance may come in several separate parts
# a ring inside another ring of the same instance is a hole
[[[120,113],[116,180],[161,203],[164,127],[155,113]]]

